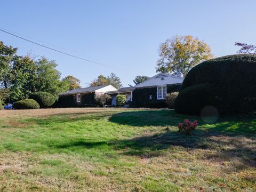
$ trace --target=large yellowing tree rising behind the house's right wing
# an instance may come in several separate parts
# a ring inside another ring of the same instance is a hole
[[[198,63],[213,58],[211,48],[203,41],[193,36],[175,36],[166,39],[159,48],[159,59],[157,61],[157,72],[169,74],[183,74]]]

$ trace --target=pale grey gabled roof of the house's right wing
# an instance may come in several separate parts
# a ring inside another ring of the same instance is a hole
[[[174,75],[159,73],[153,77],[150,77],[146,81],[143,81],[134,87],[148,87],[148,86],[158,86],[158,85],[170,85],[170,84],[180,84],[184,80],[183,77],[178,77]]]

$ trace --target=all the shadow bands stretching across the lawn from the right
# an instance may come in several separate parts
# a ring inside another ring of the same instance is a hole
[[[162,126],[157,134],[142,137],[114,140],[71,139],[63,142],[51,143],[49,147],[76,151],[83,149],[115,150],[121,155],[150,158],[163,156],[166,149],[170,151],[190,151],[203,149],[207,154],[205,159],[213,161],[238,161],[243,165],[256,167],[256,122],[255,115],[226,116],[218,119],[214,124],[207,124],[195,116],[185,116],[174,110],[140,110],[114,113],[71,114],[69,116],[52,116],[47,119],[33,119],[38,124],[68,123],[83,120],[99,120],[109,118],[109,121],[129,126]],[[199,127],[191,136],[179,134],[177,125],[183,119],[198,119]],[[165,127],[169,131],[164,131]],[[206,134],[205,130],[208,130]],[[198,152],[199,153],[199,152]],[[198,154],[200,155],[200,154]],[[238,159],[238,160],[237,160]],[[242,169],[242,168],[241,168]]]

